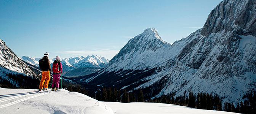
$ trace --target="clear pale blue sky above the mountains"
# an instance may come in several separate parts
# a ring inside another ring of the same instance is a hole
[[[0,39],[19,57],[111,59],[146,28],[168,43],[186,38],[221,1],[1,0]]]

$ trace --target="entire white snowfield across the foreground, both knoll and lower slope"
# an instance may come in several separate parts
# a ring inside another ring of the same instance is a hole
[[[68,90],[0,88],[0,114],[231,114],[161,103],[101,102]]]

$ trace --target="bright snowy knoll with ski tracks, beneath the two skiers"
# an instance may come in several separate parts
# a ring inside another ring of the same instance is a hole
[[[82,93],[58,90],[0,88],[0,114],[114,114],[112,109]]]

